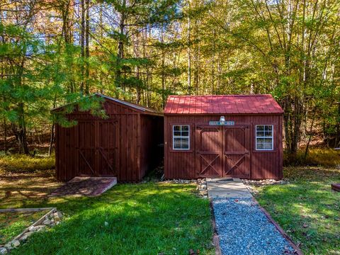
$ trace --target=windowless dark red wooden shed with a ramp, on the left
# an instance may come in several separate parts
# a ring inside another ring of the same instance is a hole
[[[140,181],[163,158],[159,147],[164,137],[163,114],[102,94],[95,96],[104,99],[108,119],[76,110],[67,117],[77,120],[77,125],[56,127],[57,179],[115,176],[118,181]]]

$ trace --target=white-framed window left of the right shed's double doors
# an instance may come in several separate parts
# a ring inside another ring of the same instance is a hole
[[[173,149],[190,149],[190,126],[173,125],[172,126],[172,148]]]

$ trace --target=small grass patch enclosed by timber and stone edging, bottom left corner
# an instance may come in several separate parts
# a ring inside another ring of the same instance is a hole
[[[0,244],[11,241],[46,212],[0,212]]]

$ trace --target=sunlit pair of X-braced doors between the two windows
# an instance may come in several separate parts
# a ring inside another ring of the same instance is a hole
[[[197,176],[249,178],[249,148],[249,125],[197,125]]]

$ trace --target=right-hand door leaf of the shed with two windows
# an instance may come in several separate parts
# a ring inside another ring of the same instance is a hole
[[[223,127],[223,176],[249,178],[250,176],[250,133],[249,125]]]

